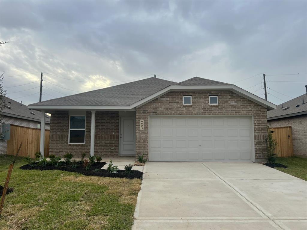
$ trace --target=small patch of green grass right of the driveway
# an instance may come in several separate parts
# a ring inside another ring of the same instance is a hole
[[[280,163],[288,166],[288,168],[278,168],[275,169],[288,173],[292,176],[301,178],[307,181],[307,159],[300,157],[278,157],[276,163]]]

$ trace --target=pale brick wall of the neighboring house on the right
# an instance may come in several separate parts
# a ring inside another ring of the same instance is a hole
[[[307,157],[307,115],[268,121],[269,127],[291,126],[293,154]]]

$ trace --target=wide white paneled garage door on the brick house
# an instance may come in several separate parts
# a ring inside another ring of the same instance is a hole
[[[150,117],[150,161],[253,160],[251,117]]]

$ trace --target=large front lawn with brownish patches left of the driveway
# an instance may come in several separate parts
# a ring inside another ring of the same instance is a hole
[[[11,159],[0,155],[2,186]],[[0,229],[131,229],[140,179],[19,169],[24,164],[24,158],[15,163]]]

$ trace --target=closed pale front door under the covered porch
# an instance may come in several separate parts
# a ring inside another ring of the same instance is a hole
[[[120,119],[120,155],[135,155],[135,117]]]

